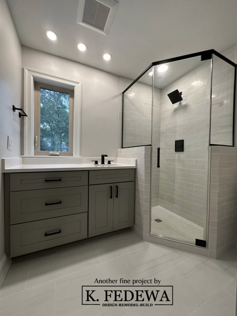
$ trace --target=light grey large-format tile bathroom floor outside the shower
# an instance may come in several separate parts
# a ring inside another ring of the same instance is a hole
[[[234,316],[237,250],[219,260],[142,241],[131,230],[13,261],[0,289],[1,316]],[[81,286],[95,278],[161,279],[173,306],[81,305]]]

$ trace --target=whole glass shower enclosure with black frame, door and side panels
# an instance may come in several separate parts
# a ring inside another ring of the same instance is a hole
[[[210,146],[234,146],[235,75],[208,50],[154,62],[123,92],[122,148],[151,146],[150,235],[206,247]]]

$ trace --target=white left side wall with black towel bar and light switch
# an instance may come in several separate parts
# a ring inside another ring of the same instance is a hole
[[[20,119],[12,105],[21,105],[21,44],[7,3],[0,0],[0,158],[20,155]],[[7,136],[13,150],[7,149]],[[0,164],[1,166],[1,164]],[[1,168],[1,167],[0,167]],[[4,181],[0,177],[0,261],[4,255]]]

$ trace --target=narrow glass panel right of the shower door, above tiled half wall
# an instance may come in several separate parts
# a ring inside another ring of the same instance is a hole
[[[233,145],[234,66],[213,55],[210,143]]]

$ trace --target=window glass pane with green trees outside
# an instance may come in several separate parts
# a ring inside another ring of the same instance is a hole
[[[40,88],[40,150],[69,148],[69,94]]]

